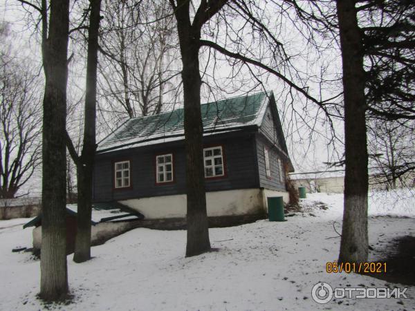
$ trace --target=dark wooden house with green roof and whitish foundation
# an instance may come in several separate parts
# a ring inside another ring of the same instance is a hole
[[[267,196],[288,199],[293,171],[272,92],[201,105],[208,216],[259,216]],[[127,120],[99,144],[95,202],[120,202],[146,219],[185,218],[183,109]]]

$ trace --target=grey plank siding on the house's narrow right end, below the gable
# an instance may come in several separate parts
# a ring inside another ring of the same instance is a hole
[[[259,185],[270,190],[286,191],[285,182],[279,179],[278,159],[282,160],[277,149],[273,144],[265,138],[261,133],[257,135],[257,161],[259,171]],[[268,156],[270,159],[271,176],[266,176],[264,147],[268,149]],[[282,162],[283,163],[283,162]],[[282,168],[284,174],[284,169]],[[285,178],[283,178],[285,180]]]

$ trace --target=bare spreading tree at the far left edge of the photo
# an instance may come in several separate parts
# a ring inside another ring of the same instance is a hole
[[[6,36],[1,38],[3,47]],[[0,55],[0,198],[15,198],[40,164],[39,77],[17,55]]]

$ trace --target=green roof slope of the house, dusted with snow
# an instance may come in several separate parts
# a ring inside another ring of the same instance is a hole
[[[253,95],[229,98],[201,105],[203,130],[223,132],[240,129],[241,126],[260,126],[271,93],[261,92]],[[98,144],[98,153],[138,147],[138,145],[156,144],[184,137],[183,108],[149,115],[134,117]],[[162,141],[160,141],[162,140]]]

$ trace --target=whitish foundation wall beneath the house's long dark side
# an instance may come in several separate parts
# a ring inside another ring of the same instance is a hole
[[[208,216],[236,216],[264,212],[261,189],[238,189],[206,193]],[[120,203],[140,211],[146,219],[184,218],[186,195],[157,196],[122,200]]]

